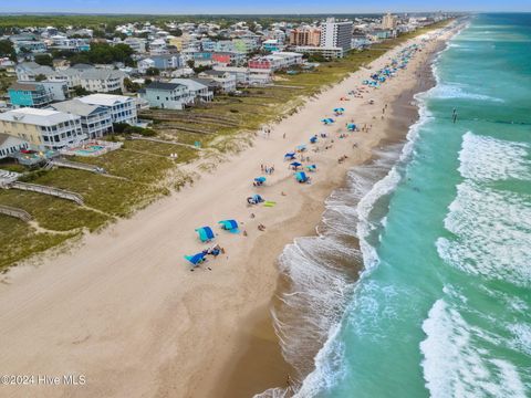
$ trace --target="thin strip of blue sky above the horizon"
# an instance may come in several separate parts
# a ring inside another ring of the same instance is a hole
[[[531,11],[531,0],[0,0],[0,12],[363,13]]]

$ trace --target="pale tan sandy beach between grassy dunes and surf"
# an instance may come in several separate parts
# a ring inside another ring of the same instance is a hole
[[[406,70],[364,98],[340,101],[389,54],[311,98],[269,136],[259,133],[252,147],[194,186],[85,237],[69,253],[2,275],[0,373],[83,375],[86,383],[1,386],[1,396],[250,397],[285,387],[290,368],[269,316],[275,259],[294,238],[315,233],[324,199],[350,167],[371,159],[372,148],[386,140],[404,139],[416,117],[413,94],[429,87],[423,77],[428,61],[449,34],[427,42]],[[400,48],[414,42],[420,40]],[[337,106],[345,114],[322,126]],[[372,128],[339,138],[351,119]],[[329,138],[311,146],[309,138],[321,132]],[[310,149],[309,164],[317,165],[309,185],[298,184],[283,161],[301,144]],[[262,164],[275,171],[254,188]],[[252,193],[277,205],[248,207]],[[223,219],[238,220],[247,235],[220,230]],[[208,247],[194,231],[204,226],[214,228],[226,253],[190,272],[183,256]]]

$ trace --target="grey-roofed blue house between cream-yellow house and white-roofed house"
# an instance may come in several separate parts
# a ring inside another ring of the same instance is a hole
[[[80,116],[81,128],[88,138],[101,138],[113,132],[113,118],[108,107],[85,104],[76,98],[55,103],[50,107]]]

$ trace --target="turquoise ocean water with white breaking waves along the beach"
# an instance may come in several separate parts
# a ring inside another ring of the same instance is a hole
[[[298,397],[531,397],[531,14],[475,15],[434,72],[281,256]]]

